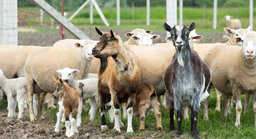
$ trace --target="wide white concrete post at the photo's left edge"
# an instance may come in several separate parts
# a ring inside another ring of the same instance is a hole
[[[18,45],[17,0],[0,0],[0,44]]]

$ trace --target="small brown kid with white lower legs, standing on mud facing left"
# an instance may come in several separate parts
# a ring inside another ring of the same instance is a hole
[[[78,113],[78,103],[79,96],[75,87],[69,86],[67,82],[62,82],[61,79],[56,80],[54,77],[52,79],[55,81],[54,83],[54,93],[52,97],[56,98],[62,97],[62,103],[64,106],[64,117],[65,117],[65,127],[66,127],[66,136],[71,137],[74,133],[78,133],[77,125],[76,125],[76,116]],[[60,105],[60,109],[62,106]],[[60,110],[59,109],[59,110]],[[63,109],[62,109],[63,110]],[[70,121],[69,116],[72,116]],[[62,116],[62,112],[60,112],[60,116]],[[70,128],[71,123],[71,128]]]

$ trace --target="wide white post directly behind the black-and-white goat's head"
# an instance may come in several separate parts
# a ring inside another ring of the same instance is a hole
[[[166,23],[171,27],[177,25],[177,0],[166,0]],[[170,36],[170,32],[166,32],[166,36]]]

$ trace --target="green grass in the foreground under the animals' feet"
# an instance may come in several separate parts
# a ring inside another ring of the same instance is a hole
[[[242,102],[244,97],[242,96]],[[254,127],[254,113],[252,110],[249,113],[242,113],[241,114],[241,125],[239,127],[235,127],[235,120],[236,120],[236,112],[235,109],[232,109],[232,113],[227,115],[227,118],[223,118],[221,116],[221,112],[215,111],[215,103],[216,103],[216,95],[214,89],[211,90],[210,102],[209,102],[209,120],[203,120],[203,110],[199,112],[199,120],[198,120],[198,131],[201,138],[256,138],[256,130]],[[243,104],[242,104],[243,105]],[[89,106],[89,105],[88,105]],[[7,107],[7,101],[0,102],[0,108],[5,109]],[[250,105],[252,108],[252,105]],[[47,113],[49,113],[52,118],[49,122],[55,123],[56,122],[56,113],[58,112],[57,109],[44,109]],[[169,132],[169,111],[164,109],[163,107],[160,108],[160,112],[162,113],[162,125],[164,131],[157,134],[157,138],[170,138],[175,137],[176,132]],[[191,115],[191,113],[190,113]],[[82,124],[86,124],[89,119],[88,112],[82,113]],[[108,114],[106,114],[106,122],[107,125],[114,125],[114,123],[109,122]],[[123,122],[126,123],[127,120],[123,119]],[[177,130],[177,122],[174,121],[175,127]],[[100,114],[97,113],[96,118],[94,120],[94,125],[98,127],[101,124],[101,117]],[[138,130],[139,119],[136,118],[132,122],[134,133],[129,134],[130,137],[139,135],[143,136],[145,132],[137,132]],[[191,131],[190,131],[190,120],[182,120],[182,138],[191,138]],[[82,125],[82,126],[83,126]],[[149,130],[150,133],[156,133],[156,120],[154,117],[153,112],[150,112],[150,115],[146,117],[145,126],[148,127],[146,130]],[[121,130],[126,130],[126,128],[122,128]],[[115,136],[115,133],[109,130],[109,132]]]

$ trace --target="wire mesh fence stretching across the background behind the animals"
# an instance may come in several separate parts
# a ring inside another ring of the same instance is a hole
[[[88,1],[88,2],[87,2]],[[64,11],[67,19],[87,2],[70,22],[84,32],[93,40],[99,40],[95,27],[104,32],[112,29],[121,35],[124,41],[128,40],[124,36],[126,32],[131,32],[135,28],[152,30],[152,34],[160,35],[154,43],[166,42],[166,31],[163,24],[166,22],[166,0],[118,0],[120,2],[120,22],[117,22],[117,0],[96,0],[100,8],[90,0],[64,0]],[[61,13],[61,0],[47,0],[53,8]],[[147,2],[150,2],[149,22],[147,23]],[[180,24],[180,8],[177,0],[177,24]],[[196,24],[198,35],[204,36],[201,43],[225,42],[224,27],[229,26],[229,22],[224,18],[230,15],[233,19],[241,21],[241,27],[249,26],[249,1],[248,0],[218,0],[217,27],[213,29],[213,0],[183,0],[184,25]],[[254,7],[256,1],[254,2]],[[171,8],[171,7],[169,7]],[[256,10],[253,11],[256,13]],[[109,27],[104,23],[102,16],[106,18]],[[255,15],[255,14],[254,14]],[[119,19],[118,19],[119,20]],[[254,22],[256,23],[256,22]],[[120,24],[120,25],[118,25]],[[256,27],[256,25],[254,25]],[[66,31],[65,39],[75,38]],[[59,23],[53,20],[46,12],[40,10],[31,0],[18,0],[18,44],[19,45],[39,45],[51,46],[56,41],[61,40],[59,33]]]

